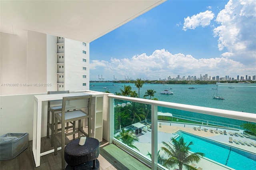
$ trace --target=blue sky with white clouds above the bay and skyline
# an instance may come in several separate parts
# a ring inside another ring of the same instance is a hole
[[[256,1],[172,0],[90,43],[90,80],[256,75]]]

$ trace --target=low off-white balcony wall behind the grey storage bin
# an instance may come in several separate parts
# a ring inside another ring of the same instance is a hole
[[[27,132],[29,140],[32,140],[34,95],[38,94],[0,96],[0,135]],[[43,109],[47,111],[47,103],[45,104]],[[46,120],[47,114],[46,118],[42,118],[42,121]]]

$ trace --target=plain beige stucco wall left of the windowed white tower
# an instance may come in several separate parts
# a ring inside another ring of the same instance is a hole
[[[0,33],[0,95],[45,93],[46,34],[18,30]]]

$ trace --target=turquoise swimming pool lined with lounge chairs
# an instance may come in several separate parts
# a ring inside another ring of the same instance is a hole
[[[176,134],[178,134],[176,140],[183,136],[185,142],[193,142],[193,145],[190,145],[190,151],[202,152],[206,158],[219,162],[220,164],[237,170],[253,170],[256,167],[256,154],[220,144],[181,130]],[[252,147],[252,149],[255,148]]]

